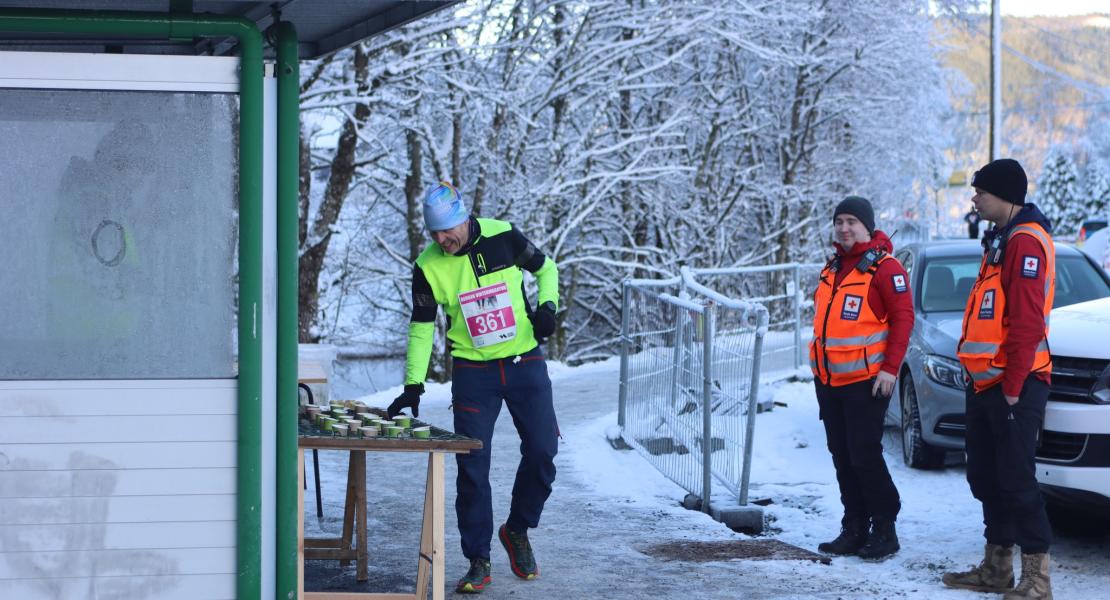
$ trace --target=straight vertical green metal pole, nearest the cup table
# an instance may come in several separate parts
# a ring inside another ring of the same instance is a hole
[[[293,23],[278,23],[278,600],[296,598],[297,210],[301,69]]]

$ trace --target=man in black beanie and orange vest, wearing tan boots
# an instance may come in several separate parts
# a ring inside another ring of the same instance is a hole
[[[1006,600],[1051,599],[1052,531],[1037,487],[1035,454],[1052,360],[1048,316],[1056,292],[1051,224],[1026,203],[1021,165],[1000,159],[971,180],[971,202],[995,223],[983,236],[979,277],[963,312],[957,348],[967,372],[967,478],[982,502],[982,562],[945,573],[948,587],[1006,592]],[[1013,588],[1013,545],[1021,582]]]

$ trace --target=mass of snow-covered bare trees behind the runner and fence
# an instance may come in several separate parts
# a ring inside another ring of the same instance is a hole
[[[474,0],[306,67],[305,330],[403,349],[440,179],[558,262],[568,359],[614,352],[625,277],[817,258],[848,193],[911,212],[947,104],[925,10]]]

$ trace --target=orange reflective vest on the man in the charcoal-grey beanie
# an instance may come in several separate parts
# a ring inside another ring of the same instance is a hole
[[[814,338],[809,343],[809,367],[818,382],[845,386],[879,374],[887,348],[889,326],[868,305],[867,295],[884,254],[866,272],[852,268],[834,287],[836,271],[830,263],[821,271],[814,295]]]

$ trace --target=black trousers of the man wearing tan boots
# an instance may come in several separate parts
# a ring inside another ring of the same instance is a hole
[[[1047,552],[1052,543],[1035,460],[1048,389],[1029,376],[1013,406],[1001,385],[967,391],[968,484],[982,502],[983,536],[989,543],[1017,543],[1026,555]]]

